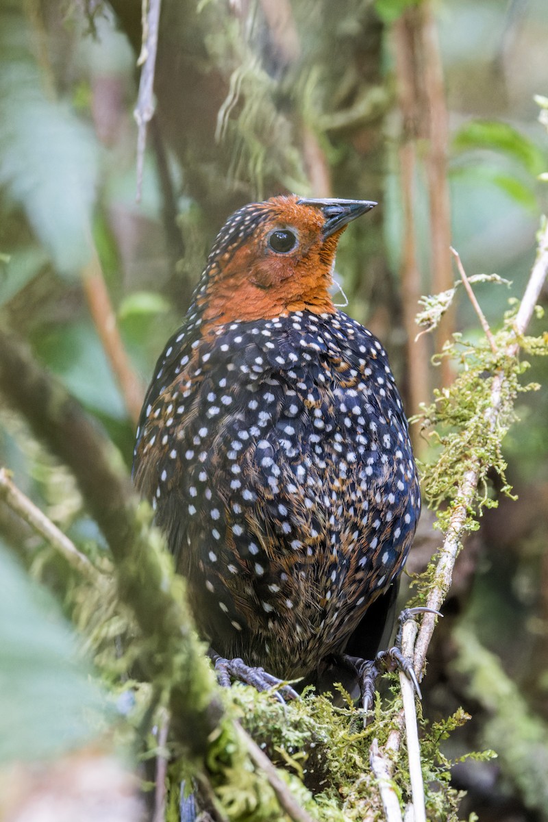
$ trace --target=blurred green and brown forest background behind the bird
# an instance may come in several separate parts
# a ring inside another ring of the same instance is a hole
[[[286,191],[372,199],[380,206],[343,238],[338,277],[346,310],[384,341],[416,411],[452,376],[431,365],[434,345],[454,330],[480,333],[461,298],[435,344],[414,341],[417,298],[452,282],[449,242],[468,275],[495,271],[511,281],[477,286],[495,325],[532,265],[546,213],[539,175],[548,140],[533,99],[548,95],[545,0],[163,0],[156,110],[136,201],[141,41],[135,0],[0,0],[2,329],[58,376],[129,470],[146,382],[224,219]],[[504,445],[518,500],[502,500],[469,541],[431,654],[425,713],[463,704],[473,715],[451,743],[457,751],[486,737],[495,750],[505,743],[492,738],[490,711],[458,667],[456,623],[514,681],[541,734],[535,750],[548,756],[547,367],[535,363],[532,379],[543,387],[520,400],[522,423]],[[71,473],[9,403],[0,409],[0,464],[77,545],[102,551]],[[418,431],[415,441],[428,459]],[[426,513],[410,571],[437,544],[430,523]],[[99,712],[107,727],[113,720],[85,670],[62,673],[74,664],[73,640],[9,554],[70,617],[67,582],[2,503],[0,545],[0,761],[32,760],[58,752],[46,721],[56,700],[66,718],[74,708],[66,750],[81,738],[81,711]],[[29,715],[32,739],[16,723],[42,700],[20,686],[29,681],[50,683],[53,700],[44,700],[43,723]],[[6,717],[13,725],[4,728]],[[540,788],[518,770],[511,755],[455,769],[455,785],[468,792],[463,816],[548,818]]]

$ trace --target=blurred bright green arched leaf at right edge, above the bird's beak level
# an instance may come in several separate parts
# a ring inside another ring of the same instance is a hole
[[[521,164],[535,177],[546,169],[546,156],[528,137],[506,122],[471,120],[454,136],[455,151],[498,151]]]

